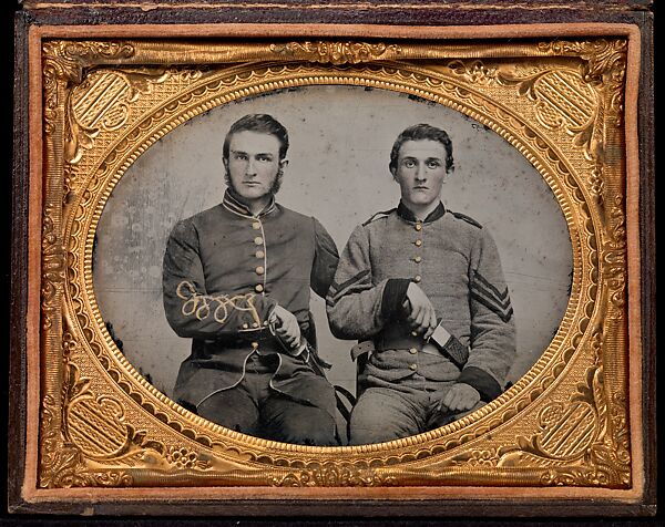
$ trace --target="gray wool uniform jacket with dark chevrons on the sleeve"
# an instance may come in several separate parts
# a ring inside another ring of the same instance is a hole
[[[441,354],[422,353],[424,341],[406,322],[411,281],[451,335]],[[374,340],[370,385],[418,373],[470,384],[483,401],[501,393],[515,353],[513,309],[494,241],[473,219],[442,204],[424,221],[401,203],[375,215],[351,234],[326,303],[336,337]],[[460,355],[466,362],[452,360]]]

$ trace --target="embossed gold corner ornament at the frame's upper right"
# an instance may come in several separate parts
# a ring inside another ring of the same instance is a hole
[[[535,105],[539,122],[549,130],[564,128],[573,144],[595,163],[589,188],[602,199],[605,192],[606,131],[621,125],[627,44],[623,39],[541,42],[539,51],[574,56],[575,64],[551,64],[525,72],[502,62],[456,60],[448,66],[456,75],[481,85],[515,86]]]

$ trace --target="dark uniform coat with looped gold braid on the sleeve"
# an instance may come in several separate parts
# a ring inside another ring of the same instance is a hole
[[[275,360],[275,390],[316,406],[334,405],[334,396],[323,401],[295,381],[300,369],[310,368],[305,353],[293,356],[276,345],[268,318],[279,304],[311,335],[310,289],[325,297],[337,261],[335,242],[318,220],[274,200],[253,216],[227,190],[222,204],[176,224],[164,256],[164,310],[174,331],[192,339],[176,400],[197,406],[237,385],[256,352]]]

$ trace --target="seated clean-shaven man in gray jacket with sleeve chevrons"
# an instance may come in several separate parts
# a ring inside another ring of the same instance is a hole
[[[358,226],[326,299],[332,333],[371,341],[350,444],[442,426],[501,392],[515,328],[497,246],[441,203],[453,168],[448,134],[419,124],[390,155],[396,209]]]

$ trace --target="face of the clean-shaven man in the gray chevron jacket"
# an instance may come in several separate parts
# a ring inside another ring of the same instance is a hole
[[[422,140],[401,145],[392,176],[405,205],[422,208],[440,199],[446,174],[446,147],[438,141]]]

